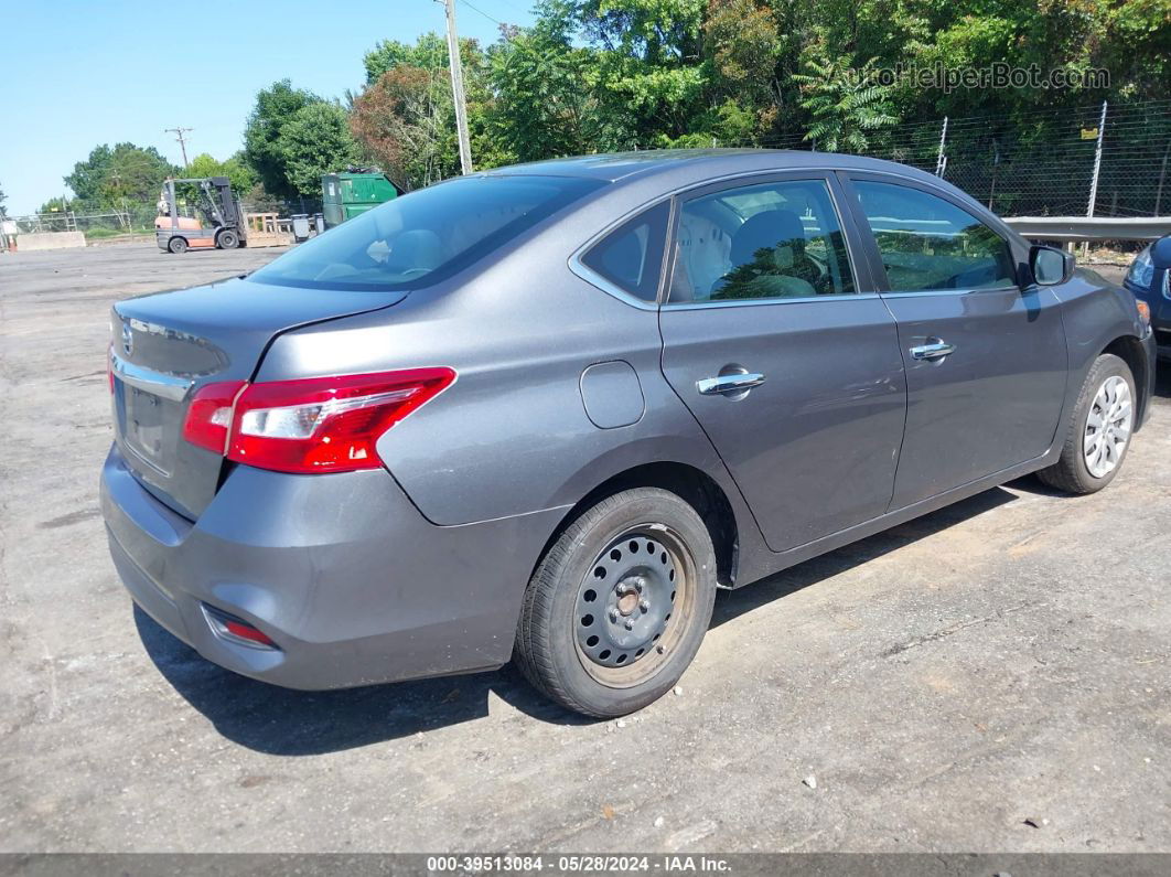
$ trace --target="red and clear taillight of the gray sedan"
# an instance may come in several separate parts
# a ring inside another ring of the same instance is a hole
[[[208,384],[192,399],[184,437],[278,472],[378,468],[378,437],[454,381],[454,371],[439,368]]]

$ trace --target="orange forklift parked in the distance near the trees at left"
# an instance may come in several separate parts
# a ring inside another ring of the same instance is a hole
[[[179,215],[174,186],[183,183],[194,185],[198,192],[194,217]],[[247,246],[248,225],[227,177],[167,179],[158,199],[158,213],[155,240],[165,253]]]

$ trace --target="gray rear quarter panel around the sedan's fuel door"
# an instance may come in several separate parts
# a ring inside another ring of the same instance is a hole
[[[391,474],[436,525],[568,512],[615,474],[676,461],[720,485],[737,513],[741,549],[754,544],[751,513],[659,369],[657,310],[577,278],[567,266],[573,249],[546,235],[473,278],[418,290],[386,311],[282,335],[258,379],[454,368],[450,389],[378,441]],[[645,407],[629,426],[600,429],[580,381],[589,365],[612,361],[632,366]]]

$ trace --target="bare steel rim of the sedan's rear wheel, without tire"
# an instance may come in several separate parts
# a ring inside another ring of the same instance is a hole
[[[658,673],[694,615],[694,582],[691,551],[670,528],[643,523],[611,539],[574,602],[574,644],[586,672],[615,688]]]

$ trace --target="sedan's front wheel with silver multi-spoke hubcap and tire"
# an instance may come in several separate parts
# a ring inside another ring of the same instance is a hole
[[[1038,478],[1077,495],[1110,484],[1130,450],[1137,399],[1130,366],[1121,357],[1102,354],[1077,395],[1061,457]]]

